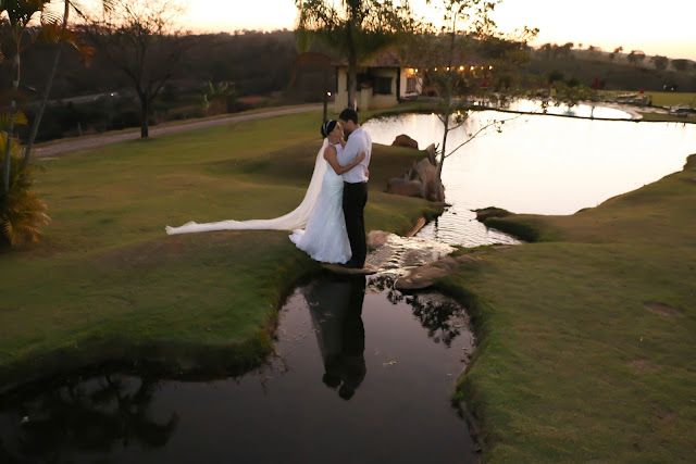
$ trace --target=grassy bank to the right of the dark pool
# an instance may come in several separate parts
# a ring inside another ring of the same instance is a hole
[[[696,155],[595,209],[497,221],[542,241],[440,284],[478,331],[458,392],[485,461],[693,462]]]

